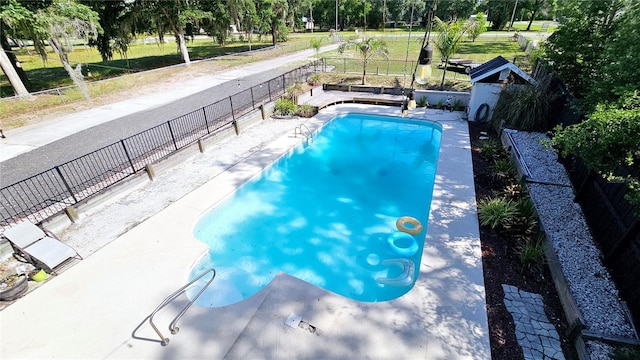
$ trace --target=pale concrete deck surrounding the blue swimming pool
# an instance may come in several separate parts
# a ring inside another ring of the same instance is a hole
[[[397,116],[399,109],[332,106],[305,124],[313,130],[345,112]],[[470,142],[460,114],[411,115],[437,121],[443,135],[419,277],[404,296],[362,303],[279,274],[241,303],[192,307],[176,335],[167,326],[186,300],[171,303],[156,316],[170,339],[160,345],[144,320],[206,253],[192,234],[196,220],[301,141],[288,132],[1,311],[0,357],[490,359]],[[285,324],[292,314],[301,326]]]

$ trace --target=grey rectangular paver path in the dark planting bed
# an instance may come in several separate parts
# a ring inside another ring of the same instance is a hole
[[[560,336],[544,312],[542,296],[511,285],[503,284],[502,289],[525,360],[564,360]]]

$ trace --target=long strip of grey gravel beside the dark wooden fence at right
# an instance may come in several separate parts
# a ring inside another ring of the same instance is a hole
[[[509,131],[534,181],[528,184],[540,221],[552,242],[564,276],[587,329],[603,335],[635,338],[618,290],[600,261],[580,205],[573,201],[569,177],[542,133]],[[609,359],[611,347],[587,342],[592,359]]]

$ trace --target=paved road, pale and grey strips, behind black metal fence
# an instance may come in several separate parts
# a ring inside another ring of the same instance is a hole
[[[314,53],[305,50],[202,76],[154,94],[12,130],[0,142],[0,188],[277,77]]]

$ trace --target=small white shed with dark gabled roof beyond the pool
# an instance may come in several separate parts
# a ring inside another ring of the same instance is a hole
[[[472,69],[469,76],[471,76],[471,98],[467,107],[469,121],[490,120],[500,92],[507,83],[536,84],[531,76],[502,56]]]

